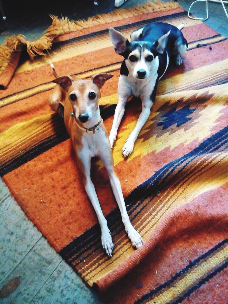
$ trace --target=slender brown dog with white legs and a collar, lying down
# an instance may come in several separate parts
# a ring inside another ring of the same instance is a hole
[[[109,257],[112,256],[114,245],[90,178],[92,157],[100,157],[107,169],[122,221],[132,245],[136,248],[142,245],[142,238],[130,223],[126,211],[119,178],[114,171],[109,137],[100,116],[98,104],[100,88],[112,76],[97,74],[92,76],[91,80],[73,79],[70,76],[59,77],[53,81],[57,85],[49,98],[49,105],[53,111],[58,111],[60,105],[64,106],[64,123],[73,143],[85,190],[98,217],[103,249]]]

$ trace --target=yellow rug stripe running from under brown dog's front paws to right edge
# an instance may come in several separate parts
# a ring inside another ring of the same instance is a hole
[[[147,225],[144,230],[139,230],[142,235],[144,241],[147,240],[149,235],[156,229],[158,224],[168,216],[170,212],[178,207],[187,204],[192,201],[195,197],[202,194],[203,192],[215,189],[228,181],[228,153],[220,153],[215,158],[211,164],[206,168],[205,172],[199,174],[198,177],[195,177],[193,174],[191,182],[186,180],[183,186],[178,189],[177,193],[170,197],[168,202],[162,202],[162,206],[159,207],[160,211],[157,213],[157,216],[151,220],[151,217],[147,220]],[[169,192],[169,189],[167,190]],[[175,201],[175,204],[174,204]],[[148,216],[148,215],[147,215]],[[153,215],[152,215],[153,216]],[[137,227],[139,227],[137,225]],[[149,231],[145,233],[145,231]],[[126,243],[123,246],[123,243]],[[98,263],[94,265],[92,268],[90,264],[86,265],[81,269],[82,277],[88,282],[89,285],[92,286],[94,282],[98,279],[102,278],[106,273],[114,270],[122,261],[124,261],[127,257],[133,253],[134,249],[132,248],[130,242],[123,242],[120,246],[123,246],[121,250],[118,250],[118,247],[115,249],[115,255],[112,259],[102,258],[102,260],[98,259]],[[94,260],[91,262],[94,263]],[[87,271],[83,271],[88,269]],[[107,271],[108,269],[108,271]]]

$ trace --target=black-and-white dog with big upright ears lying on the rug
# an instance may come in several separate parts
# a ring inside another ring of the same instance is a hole
[[[131,154],[135,140],[150,115],[158,80],[167,70],[170,57],[175,56],[177,66],[182,62],[181,55],[188,47],[181,33],[183,26],[154,22],[133,31],[130,42],[123,34],[110,28],[110,39],[115,51],[124,57],[120,68],[118,104],[109,135],[111,147],[116,139],[128,98],[133,95],[142,100],[142,112],[135,129],[122,148],[123,157]]]

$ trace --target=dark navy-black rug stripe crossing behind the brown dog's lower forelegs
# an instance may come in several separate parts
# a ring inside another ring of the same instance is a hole
[[[188,163],[190,163],[192,159],[198,157],[199,155],[219,150],[223,146],[224,140],[225,143],[228,142],[228,126],[220,130],[216,134],[212,135],[210,138],[202,142],[198,147],[196,147],[188,154],[185,154],[183,157],[180,157],[175,161],[166,164],[164,167],[159,169],[151,178],[143,182],[141,185],[137,186],[125,199],[126,208],[129,215],[134,211],[134,208],[138,208],[140,202],[143,202],[146,198],[148,198],[151,195],[151,193],[153,194],[152,196],[157,195],[157,193],[164,186],[164,183],[167,180],[167,178],[173,173],[173,171],[180,164],[184,163],[188,159],[190,159],[190,161],[188,161]],[[225,147],[224,149],[227,149],[227,147]],[[184,167],[180,169],[180,171],[183,170],[188,165],[188,163],[185,164]],[[167,173],[167,176],[164,179],[163,183],[159,185],[159,182],[165,173]],[[119,222],[118,225],[119,225],[121,223],[119,209],[116,208],[115,210],[110,212],[109,215],[106,216],[106,219],[110,227],[112,226],[113,219],[114,219],[114,224],[116,225],[118,221]],[[96,229],[98,229],[98,231]],[[71,243],[69,243],[62,250],[60,250],[60,255],[64,258],[64,260],[72,261],[71,257],[75,256],[75,254],[79,254],[81,249],[84,249],[84,247],[88,246],[89,242],[91,242],[91,239],[93,238],[92,231],[96,231],[96,235],[97,235],[98,232],[100,232],[99,226],[96,225],[96,228],[92,227],[88,229],[85,233],[75,238]]]

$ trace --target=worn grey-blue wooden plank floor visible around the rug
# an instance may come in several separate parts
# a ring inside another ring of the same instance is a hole
[[[123,7],[139,3],[142,3],[142,0],[129,0]],[[187,10],[192,1],[180,0],[179,3]],[[193,13],[199,16],[201,11],[205,11],[204,5],[203,3],[197,6]],[[110,4],[109,9],[103,9],[103,11],[112,9],[114,9],[113,3]],[[70,16],[72,9],[68,10]],[[67,13],[66,8],[64,8],[64,12]],[[101,12],[102,7],[96,9],[96,13]],[[84,16],[81,17],[86,18],[89,14],[91,14],[91,10],[90,13],[84,12]],[[210,4],[209,16],[207,24],[228,37],[227,19],[221,5]],[[8,22],[10,22],[9,19]],[[12,22],[10,28],[1,31],[1,39],[14,33],[16,27],[17,31],[20,30],[16,23],[16,21]],[[3,29],[4,26],[1,22],[0,29]],[[47,28],[47,26],[48,24],[45,23],[37,24],[33,30],[41,35],[43,28]],[[24,26],[21,27],[22,30],[26,32]],[[28,28],[27,33],[31,35],[31,28]],[[0,214],[1,304],[102,303],[98,295],[61,259],[31,221],[26,218],[2,180],[0,180]]]

